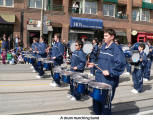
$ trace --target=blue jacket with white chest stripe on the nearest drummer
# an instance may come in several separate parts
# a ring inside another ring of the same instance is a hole
[[[110,75],[104,76],[102,72],[97,69],[96,81],[117,87],[119,76],[124,72],[126,66],[124,53],[120,50],[118,45],[112,43],[106,48],[106,44],[104,44],[100,50],[97,63],[102,70],[108,70]]]

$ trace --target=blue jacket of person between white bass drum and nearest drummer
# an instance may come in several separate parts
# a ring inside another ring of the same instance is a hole
[[[95,60],[97,59],[97,55],[98,55],[98,45],[94,45],[93,46],[93,50],[90,54],[90,62],[95,62]]]

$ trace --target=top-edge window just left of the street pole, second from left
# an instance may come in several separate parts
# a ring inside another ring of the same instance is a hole
[[[29,0],[30,8],[42,8],[42,0]]]

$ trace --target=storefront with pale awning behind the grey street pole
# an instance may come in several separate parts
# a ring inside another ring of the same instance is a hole
[[[39,20],[28,20],[28,24],[27,24],[27,31],[28,31],[28,46],[31,46],[32,44],[32,39],[34,37],[36,38],[40,38],[40,26],[41,26],[41,22]],[[48,44],[51,41],[51,37],[52,37],[52,32],[53,32],[53,28],[51,26],[51,21],[46,21],[46,26],[44,31],[44,36],[45,36],[45,42]]]

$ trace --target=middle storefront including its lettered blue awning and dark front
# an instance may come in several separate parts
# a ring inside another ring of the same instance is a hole
[[[100,32],[103,32],[103,21],[100,19],[88,19],[71,17],[69,40],[76,41],[82,38],[85,41],[92,41],[94,37],[101,39]]]

